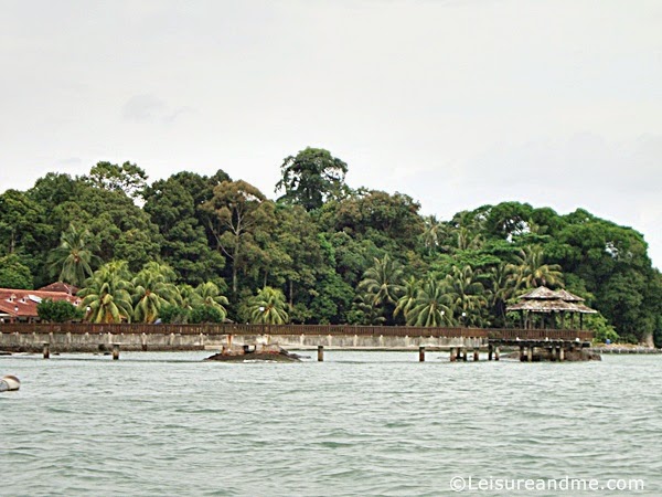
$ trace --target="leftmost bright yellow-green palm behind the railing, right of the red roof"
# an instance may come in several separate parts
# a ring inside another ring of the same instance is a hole
[[[126,261],[110,262],[96,271],[78,292],[79,308],[86,310],[89,322],[131,321],[131,283]]]

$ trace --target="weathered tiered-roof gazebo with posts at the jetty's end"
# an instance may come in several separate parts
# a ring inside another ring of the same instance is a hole
[[[556,328],[556,315],[560,316],[560,326],[565,327],[565,316],[570,315],[572,324],[575,321],[575,315],[579,315],[579,329],[584,327],[585,314],[597,314],[597,310],[584,304],[584,298],[569,293],[566,289],[552,290],[545,286],[522,295],[520,302],[512,306],[508,306],[508,313],[517,311],[522,320],[523,328],[530,328],[532,325],[531,314],[542,316],[542,326],[545,326],[546,317],[551,319],[553,328]],[[573,325],[570,325],[573,326]]]

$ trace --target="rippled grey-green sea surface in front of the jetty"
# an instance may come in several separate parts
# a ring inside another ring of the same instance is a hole
[[[0,393],[0,495],[456,495],[456,476],[474,487],[457,495],[662,495],[662,357],[211,353],[0,357],[0,376],[22,381]],[[645,489],[494,489],[565,477]]]

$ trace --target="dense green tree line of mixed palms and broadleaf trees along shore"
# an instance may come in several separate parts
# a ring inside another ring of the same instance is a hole
[[[94,322],[503,327],[509,303],[546,285],[598,309],[601,337],[662,345],[662,277],[631,228],[520,202],[441,221],[350,188],[323,149],[280,171],[276,200],[222,170],[151,184],[130,162],[50,172],[0,194],[0,286],[75,285]]]

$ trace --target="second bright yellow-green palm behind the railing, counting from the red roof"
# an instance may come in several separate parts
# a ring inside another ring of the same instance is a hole
[[[177,302],[177,288],[171,283],[174,272],[167,265],[150,262],[136,275],[134,284],[134,318],[140,322],[153,322],[164,304]]]

